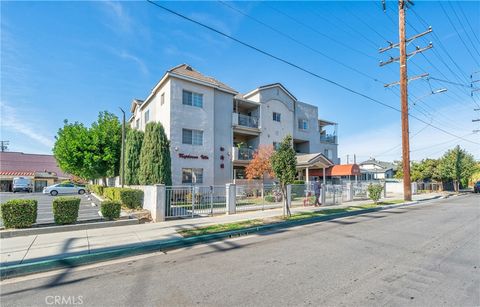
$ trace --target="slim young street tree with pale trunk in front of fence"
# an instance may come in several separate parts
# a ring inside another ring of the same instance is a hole
[[[280,188],[283,195],[283,215],[285,213],[290,216],[290,208],[287,202],[287,185],[292,184],[295,180],[297,158],[295,150],[293,149],[292,137],[287,135],[280,148],[270,158],[275,177],[280,183]]]

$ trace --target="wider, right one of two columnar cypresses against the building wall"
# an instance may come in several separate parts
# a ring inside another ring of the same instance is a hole
[[[172,185],[170,142],[162,124],[150,122],[140,152],[140,184]]]

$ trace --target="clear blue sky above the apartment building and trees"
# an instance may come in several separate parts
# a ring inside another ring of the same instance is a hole
[[[378,53],[387,40],[398,40],[396,1],[387,2],[386,13],[380,0],[160,3],[399,106],[398,89],[383,87],[398,80],[398,64],[378,65],[398,53],[397,49]],[[480,123],[472,123],[480,118],[480,112],[473,111],[480,95],[470,97],[465,87],[470,74],[480,71],[480,34],[472,32],[480,29],[480,2],[416,1],[407,20],[407,36],[426,30],[427,25],[435,33],[409,46],[412,51],[417,45],[434,44],[433,50],[409,60],[409,75],[430,73],[461,84],[433,79],[410,83],[411,113],[480,142],[480,133],[472,134],[480,129]],[[10,141],[12,151],[50,153],[64,119],[90,124],[101,110],[120,115],[118,107],[129,109],[133,98],[144,99],[166,70],[188,63],[239,92],[281,82],[299,100],[317,105],[319,117],[339,123],[343,162],[347,154],[356,154],[358,160],[400,158],[398,112],[144,1],[1,2],[1,43],[1,139]],[[476,77],[480,79],[480,72]],[[447,92],[429,94],[441,88]],[[410,130],[413,159],[438,157],[456,144],[480,159],[478,144],[455,139],[414,119]]]

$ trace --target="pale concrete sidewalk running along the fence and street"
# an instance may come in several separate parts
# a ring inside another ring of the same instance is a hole
[[[440,193],[415,195],[414,200],[427,200],[442,195],[443,194]],[[392,199],[398,198],[387,198],[386,200]],[[371,203],[371,201],[355,201],[343,205],[320,208],[294,207],[292,208],[292,213],[344,208],[368,203]],[[250,219],[262,219],[280,215],[282,215],[281,208],[265,211],[249,211],[234,215],[170,220],[161,223],[5,238],[0,240],[1,266],[32,263],[51,259],[63,259],[69,256],[159,243],[162,241],[182,238],[182,236],[177,233],[177,230],[182,228],[231,223]]]

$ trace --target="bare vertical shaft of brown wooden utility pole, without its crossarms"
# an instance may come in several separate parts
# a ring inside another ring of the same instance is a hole
[[[407,46],[405,41],[405,0],[398,1],[398,42],[400,48],[400,100],[402,107],[403,197],[412,200],[410,180],[410,137],[408,127]]]

